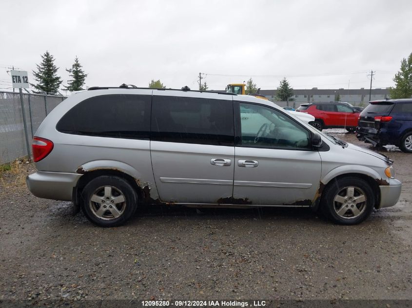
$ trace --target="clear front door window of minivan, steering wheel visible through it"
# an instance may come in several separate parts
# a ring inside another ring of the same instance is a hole
[[[282,112],[255,104],[238,105],[238,146],[311,149],[309,131]]]

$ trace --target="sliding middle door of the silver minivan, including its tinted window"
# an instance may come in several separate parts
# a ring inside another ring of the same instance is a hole
[[[234,125],[231,95],[153,95],[151,142],[159,198],[175,203],[231,203]],[[219,99],[216,99],[216,98]]]

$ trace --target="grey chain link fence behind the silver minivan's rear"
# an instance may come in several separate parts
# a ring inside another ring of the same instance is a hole
[[[0,164],[32,154],[31,147],[27,149],[27,145],[31,145],[31,139],[47,114],[65,98],[0,91]],[[27,128],[27,142],[24,126]]]

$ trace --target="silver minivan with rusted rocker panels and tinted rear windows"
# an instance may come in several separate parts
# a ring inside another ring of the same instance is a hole
[[[402,186],[386,156],[233,93],[93,87],[56,107],[32,146],[29,190],[105,227],[141,203],[310,207],[352,225]]]

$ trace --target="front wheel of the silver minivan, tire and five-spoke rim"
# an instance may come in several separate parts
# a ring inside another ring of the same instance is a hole
[[[347,193],[351,187],[354,187],[353,197],[349,197],[351,194]],[[346,195],[342,197],[342,192]],[[365,196],[364,202],[355,203],[356,198],[361,198]],[[335,201],[335,199],[344,199],[342,203]],[[355,202],[353,202],[353,200]],[[337,180],[332,180],[330,184],[325,188],[322,199],[321,199],[321,209],[323,214],[334,221],[335,223],[342,225],[355,225],[366,218],[368,218],[375,205],[375,194],[371,185],[359,178],[355,177],[345,177]],[[355,210],[359,214],[355,216]],[[341,214],[339,215],[338,212]],[[353,216],[353,217],[351,217]]]

